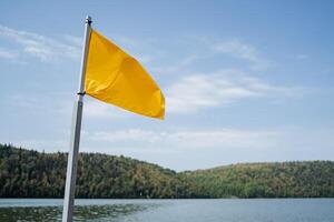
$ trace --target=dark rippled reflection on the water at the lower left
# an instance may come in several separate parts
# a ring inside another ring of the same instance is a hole
[[[139,204],[79,205],[75,209],[75,221],[119,221],[146,208]],[[61,221],[61,206],[0,208],[0,221]]]

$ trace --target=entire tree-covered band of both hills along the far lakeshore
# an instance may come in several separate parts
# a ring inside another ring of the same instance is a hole
[[[67,153],[0,144],[0,198],[62,198]],[[240,163],[175,172],[125,157],[80,153],[77,198],[334,198],[334,162]]]

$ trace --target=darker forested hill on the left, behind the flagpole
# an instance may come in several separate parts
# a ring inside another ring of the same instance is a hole
[[[67,154],[0,145],[0,196],[62,198]],[[183,198],[171,170],[124,157],[80,153],[78,198]]]

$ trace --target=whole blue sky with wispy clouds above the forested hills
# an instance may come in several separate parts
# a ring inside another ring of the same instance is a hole
[[[0,143],[68,151],[87,14],[166,120],[85,98],[81,152],[176,171],[334,160],[333,1],[0,1]]]

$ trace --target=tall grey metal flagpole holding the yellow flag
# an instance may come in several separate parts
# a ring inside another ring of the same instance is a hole
[[[87,67],[89,39],[91,32],[90,24],[91,24],[91,18],[87,16],[86,26],[85,26],[84,47],[82,47],[82,54],[81,54],[79,92],[73,108],[70,150],[68,153],[68,162],[67,162],[62,222],[72,222],[72,218],[73,218],[77,165],[78,165],[81,119],[82,119],[84,95],[85,95],[85,74],[86,74],[86,67]]]

